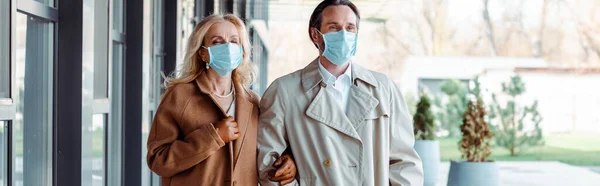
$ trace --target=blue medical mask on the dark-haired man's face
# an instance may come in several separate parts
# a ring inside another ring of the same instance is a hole
[[[346,64],[350,58],[356,54],[356,43],[358,36],[356,33],[341,30],[338,32],[321,33],[325,42],[323,56],[331,63],[341,66]]]

